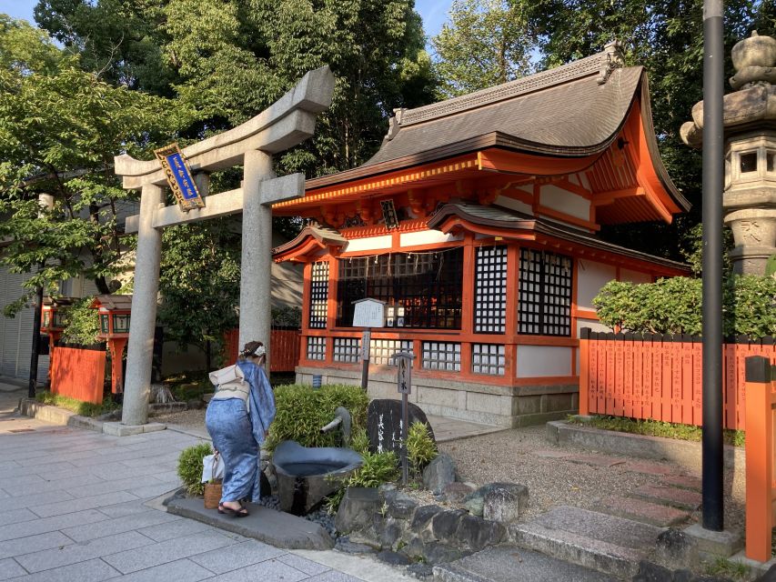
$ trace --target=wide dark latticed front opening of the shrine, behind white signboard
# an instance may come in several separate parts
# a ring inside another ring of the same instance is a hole
[[[339,259],[337,325],[353,324],[353,302],[386,303],[386,326],[460,329],[463,249]]]

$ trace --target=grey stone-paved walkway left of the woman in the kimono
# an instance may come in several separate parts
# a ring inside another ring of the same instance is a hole
[[[0,580],[405,580],[372,559],[287,551],[167,514],[176,461],[197,437],[110,437],[17,416],[0,392]]]

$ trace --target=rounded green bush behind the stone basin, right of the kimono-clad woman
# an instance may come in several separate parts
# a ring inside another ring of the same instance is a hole
[[[345,406],[352,416],[355,433],[367,425],[368,404],[369,398],[360,386],[327,385],[318,390],[312,386],[277,386],[277,414],[266,447],[274,450],[284,440],[295,440],[303,447],[334,447],[338,443],[338,431],[322,435],[321,426],[331,422],[338,406]]]

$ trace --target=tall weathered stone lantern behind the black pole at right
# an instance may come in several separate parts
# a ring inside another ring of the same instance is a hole
[[[735,248],[733,271],[765,275],[776,255],[776,39],[750,38],[733,46],[734,93],[724,97],[725,191],[722,207]],[[703,102],[681,126],[685,144],[700,147]]]

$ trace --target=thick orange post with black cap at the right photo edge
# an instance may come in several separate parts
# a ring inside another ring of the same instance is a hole
[[[771,559],[771,531],[776,524],[774,409],[776,360],[746,358],[746,557],[759,562]]]

